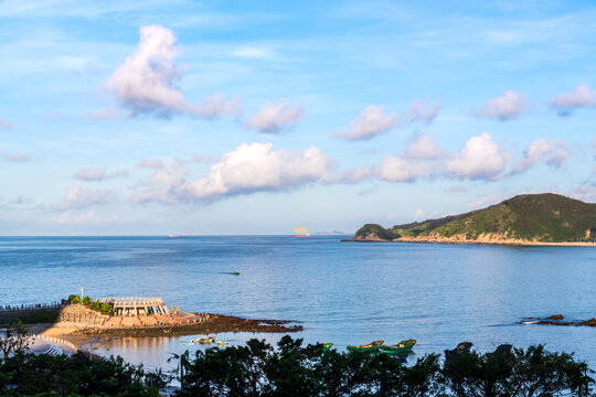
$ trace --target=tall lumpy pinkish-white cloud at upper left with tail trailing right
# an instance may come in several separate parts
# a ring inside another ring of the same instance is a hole
[[[140,42],[136,52],[116,68],[106,83],[116,99],[134,114],[187,114],[212,119],[236,116],[240,100],[225,101],[215,95],[202,104],[189,101],[174,86],[183,69],[175,66],[179,54],[175,36],[161,25],[146,25],[139,29]]]

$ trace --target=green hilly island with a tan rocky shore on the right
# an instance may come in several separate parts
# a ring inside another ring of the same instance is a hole
[[[596,243],[596,204],[522,194],[483,210],[384,228],[362,226],[347,242],[584,245]]]

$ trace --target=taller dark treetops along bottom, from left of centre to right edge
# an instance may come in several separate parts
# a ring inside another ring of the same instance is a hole
[[[594,384],[585,363],[540,345],[445,361],[430,354],[409,366],[384,354],[322,347],[284,336],[277,350],[251,340],[198,351],[193,361],[187,352],[179,356],[177,396],[590,396]]]

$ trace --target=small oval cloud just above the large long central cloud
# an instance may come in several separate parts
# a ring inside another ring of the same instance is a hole
[[[276,106],[266,103],[260,110],[246,121],[245,126],[260,132],[277,133],[296,126],[304,115],[305,111],[299,105],[283,101],[279,106]]]

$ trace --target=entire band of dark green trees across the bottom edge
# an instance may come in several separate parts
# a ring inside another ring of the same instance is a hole
[[[158,397],[177,379],[173,396],[205,397],[468,397],[594,396],[593,371],[573,353],[542,345],[493,352],[462,342],[445,354],[404,364],[386,354],[338,352],[283,336],[277,348],[264,340],[245,345],[172,354],[175,368],[147,371],[121,357],[84,352],[34,355],[26,347],[0,358],[0,395]],[[170,395],[170,394],[169,394]]]

